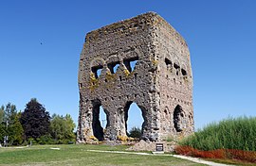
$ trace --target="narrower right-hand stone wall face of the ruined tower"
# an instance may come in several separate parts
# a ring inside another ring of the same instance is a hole
[[[184,39],[161,17],[155,27],[160,137],[185,137],[194,130],[190,52]]]

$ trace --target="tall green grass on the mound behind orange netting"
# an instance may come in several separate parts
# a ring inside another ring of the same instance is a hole
[[[256,117],[239,117],[212,123],[180,141],[198,150],[239,149],[256,151]]]

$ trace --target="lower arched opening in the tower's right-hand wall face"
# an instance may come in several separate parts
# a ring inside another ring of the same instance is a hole
[[[183,130],[183,120],[184,111],[181,106],[177,105],[176,108],[174,108],[174,128],[177,132],[181,132]]]

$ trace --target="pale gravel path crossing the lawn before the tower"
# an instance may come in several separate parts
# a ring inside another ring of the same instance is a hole
[[[149,154],[149,153],[137,153],[137,152],[124,152],[124,151],[101,151],[101,150],[87,150],[88,152],[101,152],[101,153],[113,153],[113,154],[132,154],[132,155],[148,155],[148,156],[155,156],[154,154]],[[188,159],[193,162],[201,163],[201,164],[206,164],[210,166],[231,166],[227,164],[220,164],[220,163],[215,163],[207,160],[203,160],[201,158],[191,158],[191,157],[185,157],[181,155],[171,155],[171,154],[157,154],[157,156],[170,156],[174,158],[182,158],[182,159]]]

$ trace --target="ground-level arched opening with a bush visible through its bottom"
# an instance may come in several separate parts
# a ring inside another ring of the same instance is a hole
[[[136,103],[131,101],[126,103],[124,107],[124,120],[127,136],[140,139],[143,131],[145,130],[145,126],[147,125],[145,113],[146,109],[137,106]],[[133,134],[130,133],[130,131],[132,131]]]

